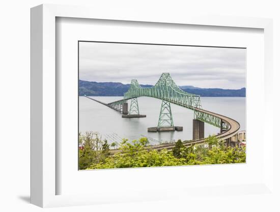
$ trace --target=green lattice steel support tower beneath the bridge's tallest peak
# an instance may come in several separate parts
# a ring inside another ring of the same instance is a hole
[[[162,100],[157,127],[173,127],[170,102]]]

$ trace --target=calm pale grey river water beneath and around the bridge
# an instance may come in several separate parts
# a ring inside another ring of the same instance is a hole
[[[122,99],[118,96],[94,96],[99,101],[108,103]],[[201,97],[202,108],[221,115],[226,115],[240,123],[240,130],[245,130],[244,97]],[[128,101],[130,105],[130,100]],[[140,114],[146,118],[122,118],[121,113],[106,107],[87,97],[79,97],[79,131],[97,131],[108,143],[129,141],[147,137],[153,144],[172,142],[178,139],[192,139],[193,111],[171,104],[175,126],[183,126],[183,131],[149,133],[148,127],[157,126],[161,100],[151,97],[138,98]],[[205,123],[205,137],[217,134],[219,128]]]

